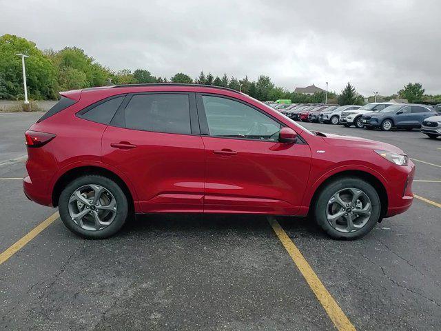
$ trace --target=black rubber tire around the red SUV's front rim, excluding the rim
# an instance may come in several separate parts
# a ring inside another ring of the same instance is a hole
[[[356,188],[358,190],[362,190],[365,192],[365,194],[367,194],[367,197],[369,197],[369,200],[371,201],[371,215],[367,223],[365,223],[362,228],[356,230],[355,232],[340,232],[339,230],[336,230],[329,223],[326,216],[329,199],[331,199],[336,192],[344,190],[345,188]],[[364,237],[376,225],[380,219],[380,214],[381,203],[376,189],[373,188],[371,184],[358,177],[342,177],[327,183],[325,188],[323,188],[318,194],[314,206],[314,217],[316,218],[318,225],[320,225],[320,227],[334,239],[352,240]]]

